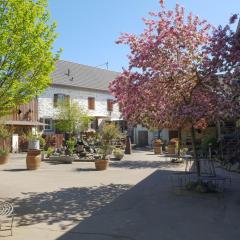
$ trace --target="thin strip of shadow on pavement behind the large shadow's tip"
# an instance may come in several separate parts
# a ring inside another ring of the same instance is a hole
[[[178,166],[178,164],[171,163],[170,161],[119,161],[110,162],[112,168],[128,168],[128,169],[141,169],[141,168],[167,168]]]

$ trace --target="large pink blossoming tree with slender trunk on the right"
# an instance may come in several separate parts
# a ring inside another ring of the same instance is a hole
[[[190,128],[200,175],[195,129],[239,116],[239,38],[230,26],[214,28],[176,5],[144,19],[140,35],[124,33],[129,67],[110,85],[123,117],[150,128]],[[237,20],[231,18],[231,23]]]

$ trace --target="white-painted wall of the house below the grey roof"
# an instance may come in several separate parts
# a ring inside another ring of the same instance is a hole
[[[90,116],[102,116],[111,117],[112,120],[120,120],[121,113],[119,112],[118,104],[113,105],[113,111],[107,110],[107,99],[113,99],[113,97],[103,91],[85,90],[85,89],[73,89],[67,87],[49,87],[38,98],[38,116],[39,118],[54,119],[56,116],[56,108],[54,107],[54,94],[69,95],[71,101],[76,101],[82,106]],[[95,98],[95,110],[88,110],[88,98]]]

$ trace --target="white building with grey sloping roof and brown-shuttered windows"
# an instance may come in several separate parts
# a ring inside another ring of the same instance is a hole
[[[38,117],[47,124],[45,133],[52,133],[56,106],[59,101],[76,101],[90,116],[94,116],[97,125],[102,120],[120,121],[121,113],[117,103],[108,91],[109,83],[119,73],[90,67],[82,64],[59,60],[52,74],[52,85],[38,98]]]

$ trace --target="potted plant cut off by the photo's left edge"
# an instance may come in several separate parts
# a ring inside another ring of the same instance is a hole
[[[11,136],[11,133],[5,126],[0,126],[0,140],[2,140],[2,149],[0,149],[0,164],[5,164],[9,159],[9,147],[6,146],[6,140]]]

